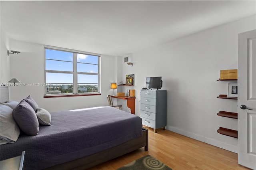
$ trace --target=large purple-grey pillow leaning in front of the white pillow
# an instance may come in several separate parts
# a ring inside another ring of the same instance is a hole
[[[20,129],[30,135],[38,134],[39,123],[34,109],[22,99],[18,106],[12,112],[13,118],[20,127]]]

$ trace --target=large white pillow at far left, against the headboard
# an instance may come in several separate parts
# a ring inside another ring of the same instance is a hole
[[[0,144],[14,143],[20,136],[20,128],[12,117],[12,108],[0,105]]]

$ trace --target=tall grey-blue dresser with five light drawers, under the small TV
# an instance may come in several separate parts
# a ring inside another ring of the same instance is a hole
[[[166,90],[140,91],[140,117],[142,125],[154,128],[166,127],[167,92]]]

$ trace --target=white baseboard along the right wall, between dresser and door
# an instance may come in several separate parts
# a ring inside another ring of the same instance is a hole
[[[199,140],[201,142],[205,142],[205,143],[211,144],[213,146],[217,146],[219,148],[229,150],[229,151],[234,152],[234,153],[238,153],[237,146],[234,146],[234,145],[231,145],[231,144],[228,144],[228,143],[225,143],[225,142],[221,142],[219,140],[215,140],[215,139],[212,139],[212,138],[208,138],[208,137],[205,137],[205,136],[201,136],[201,135],[195,134],[193,132],[188,132],[188,131],[185,131],[185,130],[181,130],[181,129],[178,129],[178,128],[175,128],[175,127],[172,127],[172,126],[166,126],[166,129],[170,130],[172,132],[176,132],[178,134],[182,134],[184,136]]]

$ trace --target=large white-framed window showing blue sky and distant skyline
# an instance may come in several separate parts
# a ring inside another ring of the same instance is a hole
[[[44,45],[47,96],[96,95],[100,55]]]

